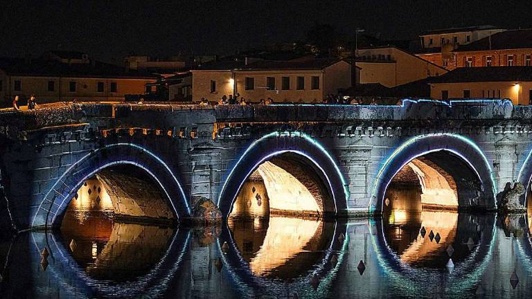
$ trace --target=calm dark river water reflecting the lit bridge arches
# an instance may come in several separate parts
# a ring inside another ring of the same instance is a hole
[[[176,229],[69,212],[0,242],[0,298],[529,298],[530,223],[392,210]]]

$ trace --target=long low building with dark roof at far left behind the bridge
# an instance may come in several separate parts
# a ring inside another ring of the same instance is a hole
[[[124,100],[145,93],[157,76],[125,71],[120,66],[90,60],[0,58],[0,99],[10,105],[15,96],[37,96],[39,103]]]

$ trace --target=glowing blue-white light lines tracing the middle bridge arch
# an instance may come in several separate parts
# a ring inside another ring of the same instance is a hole
[[[266,138],[272,138],[272,137],[281,137],[281,136],[290,136],[290,137],[300,137],[300,138],[305,138],[306,141],[309,141],[310,143],[312,143],[312,145],[315,145],[316,147],[318,147],[318,149],[323,152],[323,154],[325,154],[327,156],[327,158],[331,161],[332,165],[335,166],[335,170],[337,171],[337,174],[339,175],[340,179],[342,180],[342,186],[344,187],[344,195],[345,195],[345,199],[346,201],[348,201],[349,199],[349,190],[347,188],[347,183],[346,183],[346,180],[344,179],[344,175],[342,174],[342,171],[340,170],[340,168],[338,167],[337,163],[335,162],[335,160],[332,158],[332,156],[330,156],[329,152],[327,152],[327,150],[325,149],[325,147],[323,147],[323,145],[321,145],[318,141],[314,140],[313,138],[310,138],[308,135],[304,134],[304,133],[301,133],[301,132],[298,132],[298,131],[294,131],[294,132],[272,132],[272,133],[269,133],[269,134],[266,134],[265,136],[262,136],[260,138],[258,138],[256,141],[254,141],[253,143],[251,143],[251,145],[249,145],[249,147],[247,147],[247,149],[245,150],[245,152],[240,156],[240,158],[238,159],[238,161],[235,163],[235,165],[233,166],[233,168],[231,169],[231,172],[229,172],[229,175],[227,176],[227,179],[225,180],[224,182],[224,185],[222,187],[222,190],[220,192],[220,195],[218,196],[218,203],[217,203],[217,206],[219,207],[220,206],[220,202],[222,201],[222,196],[224,195],[224,191],[225,191],[225,188],[227,187],[227,182],[229,181],[229,179],[231,179],[231,177],[233,176],[233,172],[235,171],[236,167],[240,164],[240,162],[242,161],[242,158],[244,158],[250,151],[251,149],[253,149],[258,143],[260,143],[260,141],[263,141],[264,139]],[[297,151],[297,150],[281,150],[281,151],[277,151],[277,152],[274,152],[272,154],[268,154],[267,156],[261,158],[260,162],[257,163],[257,165],[254,165],[253,168],[251,168],[251,172],[253,172],[253,170],[258,167],[258,165],[260,165],[261,163],[263,163],[267,158],[270,158],[272,156],[276,156],[277,154],[280,154],[281,152],[295,152],[297,154],[301,154],[303,156],[305,156],[306,158],[309,158],[310,161],[312,161],[312,163],[314,163],[314,165],[317,165],[317,167],[320,168],[320,170],[323,172],[323,169],[316,163],[316,161],[314,161],[310,156],[308,156],[307,154],[301,152],[301,151]],[[249,172],[247,174],[247,176],[249,176],[251,174],[251,172]],[[328,180],[328,183],[330,185],[330,188],[332,190],[332,183],[330,182],[330,179],[328,177],[328,175],[323,172],[323,174],[326,176],[327,180]],[[240,188],[242,188],[242,184],[244,182],[240,182],[240,185],[239,185],[239,190]],[[232,199],[233,200],[233,203],[234,203],[234,200],[235,199]],[[232,205],[232,203],[231,203]],[[336,201],[335,201],[335,207],[336,207]],[[338,212],[338,211],[336,211]]]

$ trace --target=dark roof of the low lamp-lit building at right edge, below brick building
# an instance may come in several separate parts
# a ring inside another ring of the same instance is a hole
[[[459,68],[433,78],[434,83],[532,81],[532,66]]]

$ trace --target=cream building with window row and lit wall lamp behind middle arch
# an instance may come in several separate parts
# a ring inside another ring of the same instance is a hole
[[[238,93],[247,102],[322,102],[338,89],[351,87],[351,64],[344,60],[221,62],[191,73],[194,101]]]

